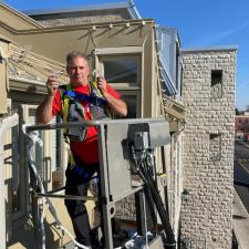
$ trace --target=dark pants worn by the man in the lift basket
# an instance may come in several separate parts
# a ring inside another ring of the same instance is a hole
[[[94,173],[98,173],[100,165],[84,165],[79,160],[76,165],[76,167],[81,168],[76,169],[75,167],[71,168],[70,165],[68,166],[65,173],[65,195],[87,196],[89,181]],[[90,228],[89,214],[84,203],[83,200],[65,199],[65,206],[73,224],[76,241],[84,246],[91,246],[94,235]]]

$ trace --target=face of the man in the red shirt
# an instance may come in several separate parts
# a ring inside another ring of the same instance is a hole
[[[72,87],[89,84],[90,69],[84,58],[74,58],[66,66]]]

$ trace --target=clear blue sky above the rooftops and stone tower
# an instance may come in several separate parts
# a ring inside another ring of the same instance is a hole
[[[125,0],[3,0],[18,10],[38,10]],[[249,105],[249,0],[134,0],[143,18],[176,28],[181,48],[238,45],[237,107]]]

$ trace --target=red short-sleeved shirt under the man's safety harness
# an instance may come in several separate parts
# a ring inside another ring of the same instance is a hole
[[[108,84],[106,85],[107,92],[114,96],[115,98],[120,98],[121,95],[112,89]],[[77,93],[89,94],[89,85],[82,85],[74,89]],[[91,121],[92,115],[90,113],[89,103],[85,101],[81,101],[85,110],[85,120]],[[54,100],[53,100],[53,110],[52,114],[58,115],[62,112],[62,102],[60,92],[56,91]],[[77,156],[83,163],[93,164],[98,162],[98,148],[97,148],[97,128],[94,126],[87,127],[87,134],[84,142],[71,142],[70,148],[72,153]]]

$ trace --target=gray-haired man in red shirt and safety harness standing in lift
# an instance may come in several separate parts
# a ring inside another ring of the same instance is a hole
[[[120,116],[126,116],[127,107],[125,102],[106,83],[104,77],[97,79],[96,89],[89,82],[90,68],[84,54],[77,51],[69,53],[66,56],[66,72],[70,84],[64,89],[59,87],[55,76],[48,77],[48,95],[37,110],[37,123],[48,123],[54,115],[62,115],[64,122],[79,121],[77,116],[91,121],[98,118],[100,113],[102,117],[107,116],[107,111],[112,111]],[[98,105],[97,103],[102,104]],[[79,108],[81,108],[81,114],[77,112]],[[75,135],[75,131],[68,131],[66,134],[70,138],[72,155],[65,173],[65,194],[82,196],[86,195],[89,181],[93,174],[98,170],[100,165],[96,128],[91,126],[79,133],[83,135]],[[91,229],[85,205],[81,200],[66,199],[65,206],[72,219],[76,240],[84,246],[91,247],[93,241],[91,241]]]

